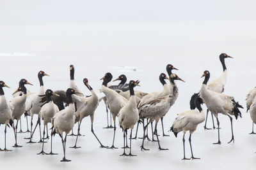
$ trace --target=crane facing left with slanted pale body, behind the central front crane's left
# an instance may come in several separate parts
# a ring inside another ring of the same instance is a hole
[[[125,97],[118,94],[115,90],[108,88],[108,83],[113,78],[111,73],[106,73],[104,77],[100,78],[100,80],[103,80],[102,83],[102,92],[106,95],[109,110],[111,111],[112,118],[114,121],[114,135],[113,135],[113,144],[110,148],[115,148],[115,132],[116,132],[116,116],[120,109],[125,106],[125,104],[128,102]]]

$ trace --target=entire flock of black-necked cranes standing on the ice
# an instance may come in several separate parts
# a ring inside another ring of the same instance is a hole
[[[202,82],[202,87],[200,92],[194,94],[191,97],[190,106],[191,110],[179,113],[175,118],[170,131],[175,134],[183,132],[183,146],[184,146],[184,157],[183,160],[188,160],[185,154],[185,134],[189,131],[189,145],[191,148],[191,159],[199,159],[194,157],[192,145],[191,145],[191,134],[196,131],[198,124],[205,121],[204,128],[206,127],[206,120],[208,112],[211,111],[212,122],[214,127],[214,118],[216,118],[218,124],[218,141],[214,144],[221,144],[220,141],[220,121],[218,114],[227,115],[230,118],[232,136],[228,143],[234,143],[234,132],[232,124],[232,116],[234,115],[237,119],[242,117],[239,108],[243,108],[232,96],[227,96],[223,94],[225,83],[227,80],[227,67],[225,65],[225,59],[232,58],[226,53],[221,53],[220,61],[223,66],[223,74],[216,80],[208,83],[210,79],[210,72],[205,70],[202,77],[204,81]],[[139,90],[134,90],[135,87],[140,86],[140,81],[131,80],[126,83],[127,78],[124,74],[120,75],[114,81],[120,80],[118,85],[108,85],[112,80],[113,76],[111,73],[106,73],[100,79],[102,80],[102,87],[100,88],[100,93],[97,94],[93,88],[90,86],[87,78],[83,79],[84,85],[90,90],[90,96],[84,96],[83,93],[77,87],[74,81],[74,66],[70,65],[70,86],[67,90],[55,90],[44,89],[44,76],[49,76],[44,73],[44,71],[39,71],[38,80],[40,82],[40,87],[37,93],[31,93],[26,89],[25,85],[32,85],[26,79],[21,79],[19,81],[18,89],[13,93],[13,98],[11,101],[7,101],[4,97],[3,87],[8,87],[4,81],[0,81],[0,124],[5,125],[4,129],[4,149],[1,151],[10,151],[6,148],[6,129],[7,126],[12,126],[15,145],[13,147],[21,147],[17,143],[17,129],[20,121],[20,117],[24,114],[27,120],[27,132],[30,132],[30,137],[28,143],[35,143],[33,141],[33,134],[36,127],[39,127],[39,136],[42,143],[42,151],[38,154],[48,154],[55,155],[52,152],[52,136],[58,134],[61,138],[61,143],[63,146],[63,159],[61,162],[68,162],[66,158],[66,143],[67,136],[72,131],[71,136],[74,135],[73,128],[74,124],[77,123],[77,135],[76,143],[70,148],[79,148],[77,146],[77,141],[80,134],[81,124],[83,118],[89,117],[91,120],[91,131],[93,136],[97,139],[101,148],[116,148],[115,147],[115,133],[116,133],[116,118],[118,118],[118,125],[124,133],[124,153],[122,156],[136,156],[131,153],[132,150],[132,139],[137,139],[137,132],[139,125],[142,124],[143,138],[141,143],[141,150],[148,150],[145,148],[145,139],[148,139],[148,125],[151,125],[152,141],[157,141],[159,150],[168,150],[167,148],[162,148],[159,141],[159,134],[157,133],[157,124],[161,120],[163,136],[168,136],[164,134],[163,118],[166,113],[169,112],[170,108],[175,104],[177,97],[179,96],[179,90],[175,81],[184,81],[177,74],[172,73],[173,70],[178,70],[171,64],[166,66],[167,75],[161,73],[159,75],[159,81],[163,85],[163,89],[156,92],[146,93]],[[169,80],[166,83],[166,80]],[[8,87],[10,88],[10,87]],[[248,93],[246,96],[246,106],[247,111],[250,110],[250,116],[253,123],[256,124],[256,87]],[[113,119],[113,142],[110,147],[102,145],[102,142],[97,137],[93,130],[93,120],[94,113],[99,105],[99,102],[103,100],[106,104],[107,118],[109,117],[110,111],[110,125],[108,118],[108,126],[106,128],[112,127]],[[202,110],[201,105],[205,104],[207,106],[207,115],[205,119],[204,110]],[[33,116],[37,115],[38,120],[36,125],[33,127]],[[28,128],[28,116],[31,117],[30,131]],[[15,123],[16,120],[16,123]],[[41,133],[41,120],[44,122],[43,135]],[[146,122],[145,122],[146,120]],[[153,128],[153,122],[155,122],[155,127]],[[48,124],[51,124],[51,128],[48,128]],[[21,124],[21,121],[20,121]],[[132,138],[132,130],[136,126],[136,134]],[[131,130],[130,136],[128,137],[128,130]],[[45,132],[46,130],[46,132]],[[51,152],[46,153],[44,151],[45,139],[49,138],[48,131],[51,130]],[[45,137],[46,134],[46,137]],[[252,134],[253,132],[252,127]],[[155,140],[154,137],[157,139]],[[128,139],[130,145],[128,146]],[[125,149],[129,148],[129,154],[125,153]]]

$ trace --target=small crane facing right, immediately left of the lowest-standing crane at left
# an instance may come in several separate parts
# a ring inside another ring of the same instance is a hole
[[[58,113],[60,110],[58,108],[58,106],[56,104],[53,103],[51,97],[52,96],[59,96],[58,94],[56,94],[55,92],[52,92],[51,89],[47,89],[45,91],[45,97],[47,99],[46,103],[42,106],[41,110],[39,111],[39,115],[42,118],[42,120],[44,121],[44,131],[43,131],[43,143],[42,143],[42,151],[39,154],[47,154],[47,155],[56,155],[56,153],[52,152],[52,132],[51,132],[51,152],[50,153],[45,153],[44,152],[44,136],[45,136],[45,126],[48,123],[51,123],[51,119],[52,117],[54,117],[54,115],[56,113]],[[53,128],[52,128],[53,131]]]

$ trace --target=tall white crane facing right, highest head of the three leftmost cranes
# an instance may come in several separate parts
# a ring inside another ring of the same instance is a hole
[[[33,138],[33,134],[36,130],[37,125],[39,125],[39,134],[40,134],[40,141],[38,141],[38,142],[39,143],[42,142],[41,118],[38,115],[38,113],[41,110],[41,106],[42,106],[42,103],[40,103],[42,97],[40,97],[40,96],[44,96],[44,94],[45,94],[43,76],[49,76],[49,75],[44,73],[44,71],[39,71],[37,76],[38,76],[38,80],[39,80],[39,83],[40,83],[39,90],[38,90],[37,93],[29,95],[26,99],[26,108],[25,108],[25,110],[31,116],[30,138],[27,138],[27,139],[29,139],[29,141],[27,143],[35,143],[35,142],[32,141],[32,138]],[[38,115],[38,120],[36,122],[35,129],[32,132],[33,116],[34,115]]]

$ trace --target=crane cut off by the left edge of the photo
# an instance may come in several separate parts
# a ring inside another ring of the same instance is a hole
[[[4,96],[4,90],[3,87],[8,87],[4,83],[4,81],[0,81],[0,124],[5,125],[4,129],[4,150],[1,151],[11,151],[6,149],[6,127],[9,124],[9,122],[12,122],[12,111],[13,111],[13,106],[10,104],[9,101],[6,101],[6,98]],[[8,87],[10,88],[10,87]]]

